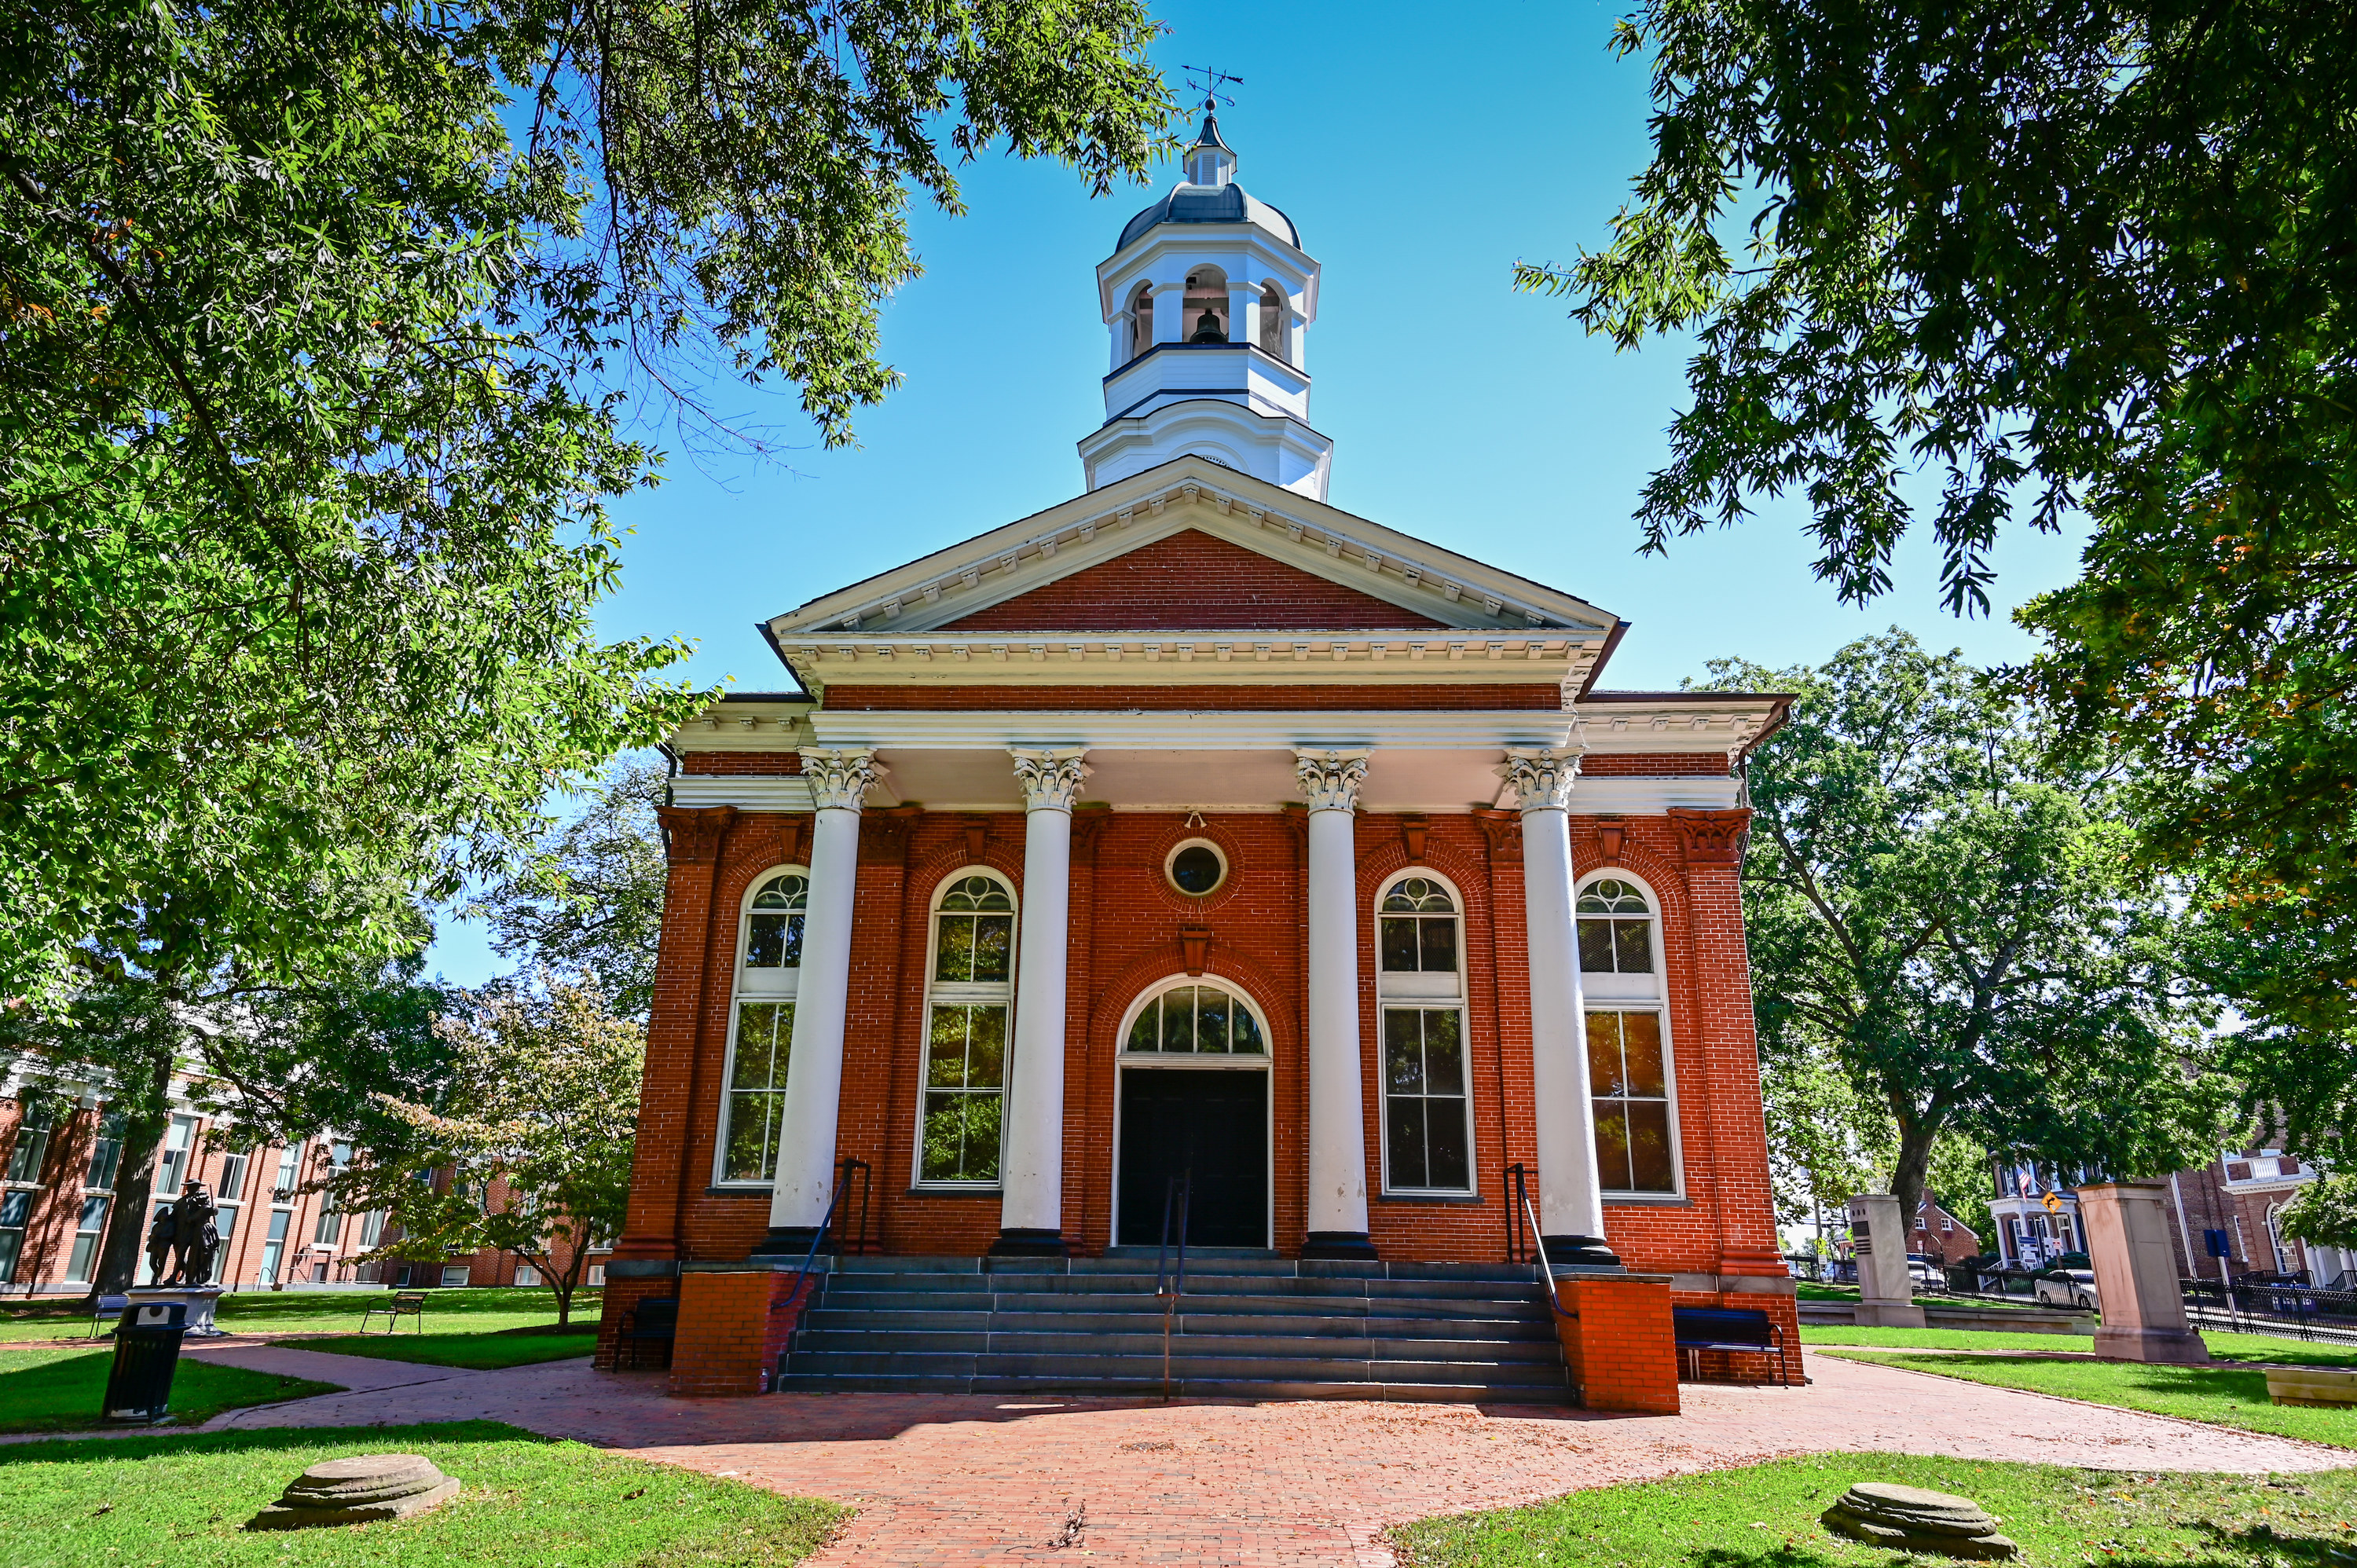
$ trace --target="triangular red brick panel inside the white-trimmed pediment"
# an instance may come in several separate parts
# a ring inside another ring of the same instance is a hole
[[[1028,594],[952,620],[945,632],[1287,632],[1447,627],[1445,620],[1329,582],[1188,528]]]

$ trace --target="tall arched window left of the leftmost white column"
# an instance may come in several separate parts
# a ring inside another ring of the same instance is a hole
[[[721,1184],[761,1184],[778,1167],[778,1115],[785,1111],[785,1066],[794,1047],[794,986],[801,979],[808,901],[811,877],[804,870],[771,872],[745,894],[714,1172]]]

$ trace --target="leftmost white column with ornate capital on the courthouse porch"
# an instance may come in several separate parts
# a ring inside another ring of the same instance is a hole
[[[834,1198],[834,1115],[844,1099],[844,1021],[851,1004],[851,903],[860,875],[860,804],[877,780],[872,750],[804,747],[811,780],[811,894],[801,922],[801,979],[794,983],[794,1045],[778,1125],[778,1174],[768,1191],[768,1236],[757,1257],[794,1252]]]

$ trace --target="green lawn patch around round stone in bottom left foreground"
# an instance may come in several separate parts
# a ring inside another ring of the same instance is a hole
[[[398,1523],[245,1530],[363,1452],[420,1452],[464,1490]],[[0,1568],[785,1568],[846,1514],[497,1422],[0,1445]]]

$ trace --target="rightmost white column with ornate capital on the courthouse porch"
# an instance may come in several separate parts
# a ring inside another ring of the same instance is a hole
[[[1589,1101],[1589,1019],[1572,920],[1572,780],[1579,752],[1511,750],[1523,806],[1523,910],[1530,936],[1530,1094],[1539,1122],[1539,1233],[1560,1264],[1615,1264],[1605,1247]]]

